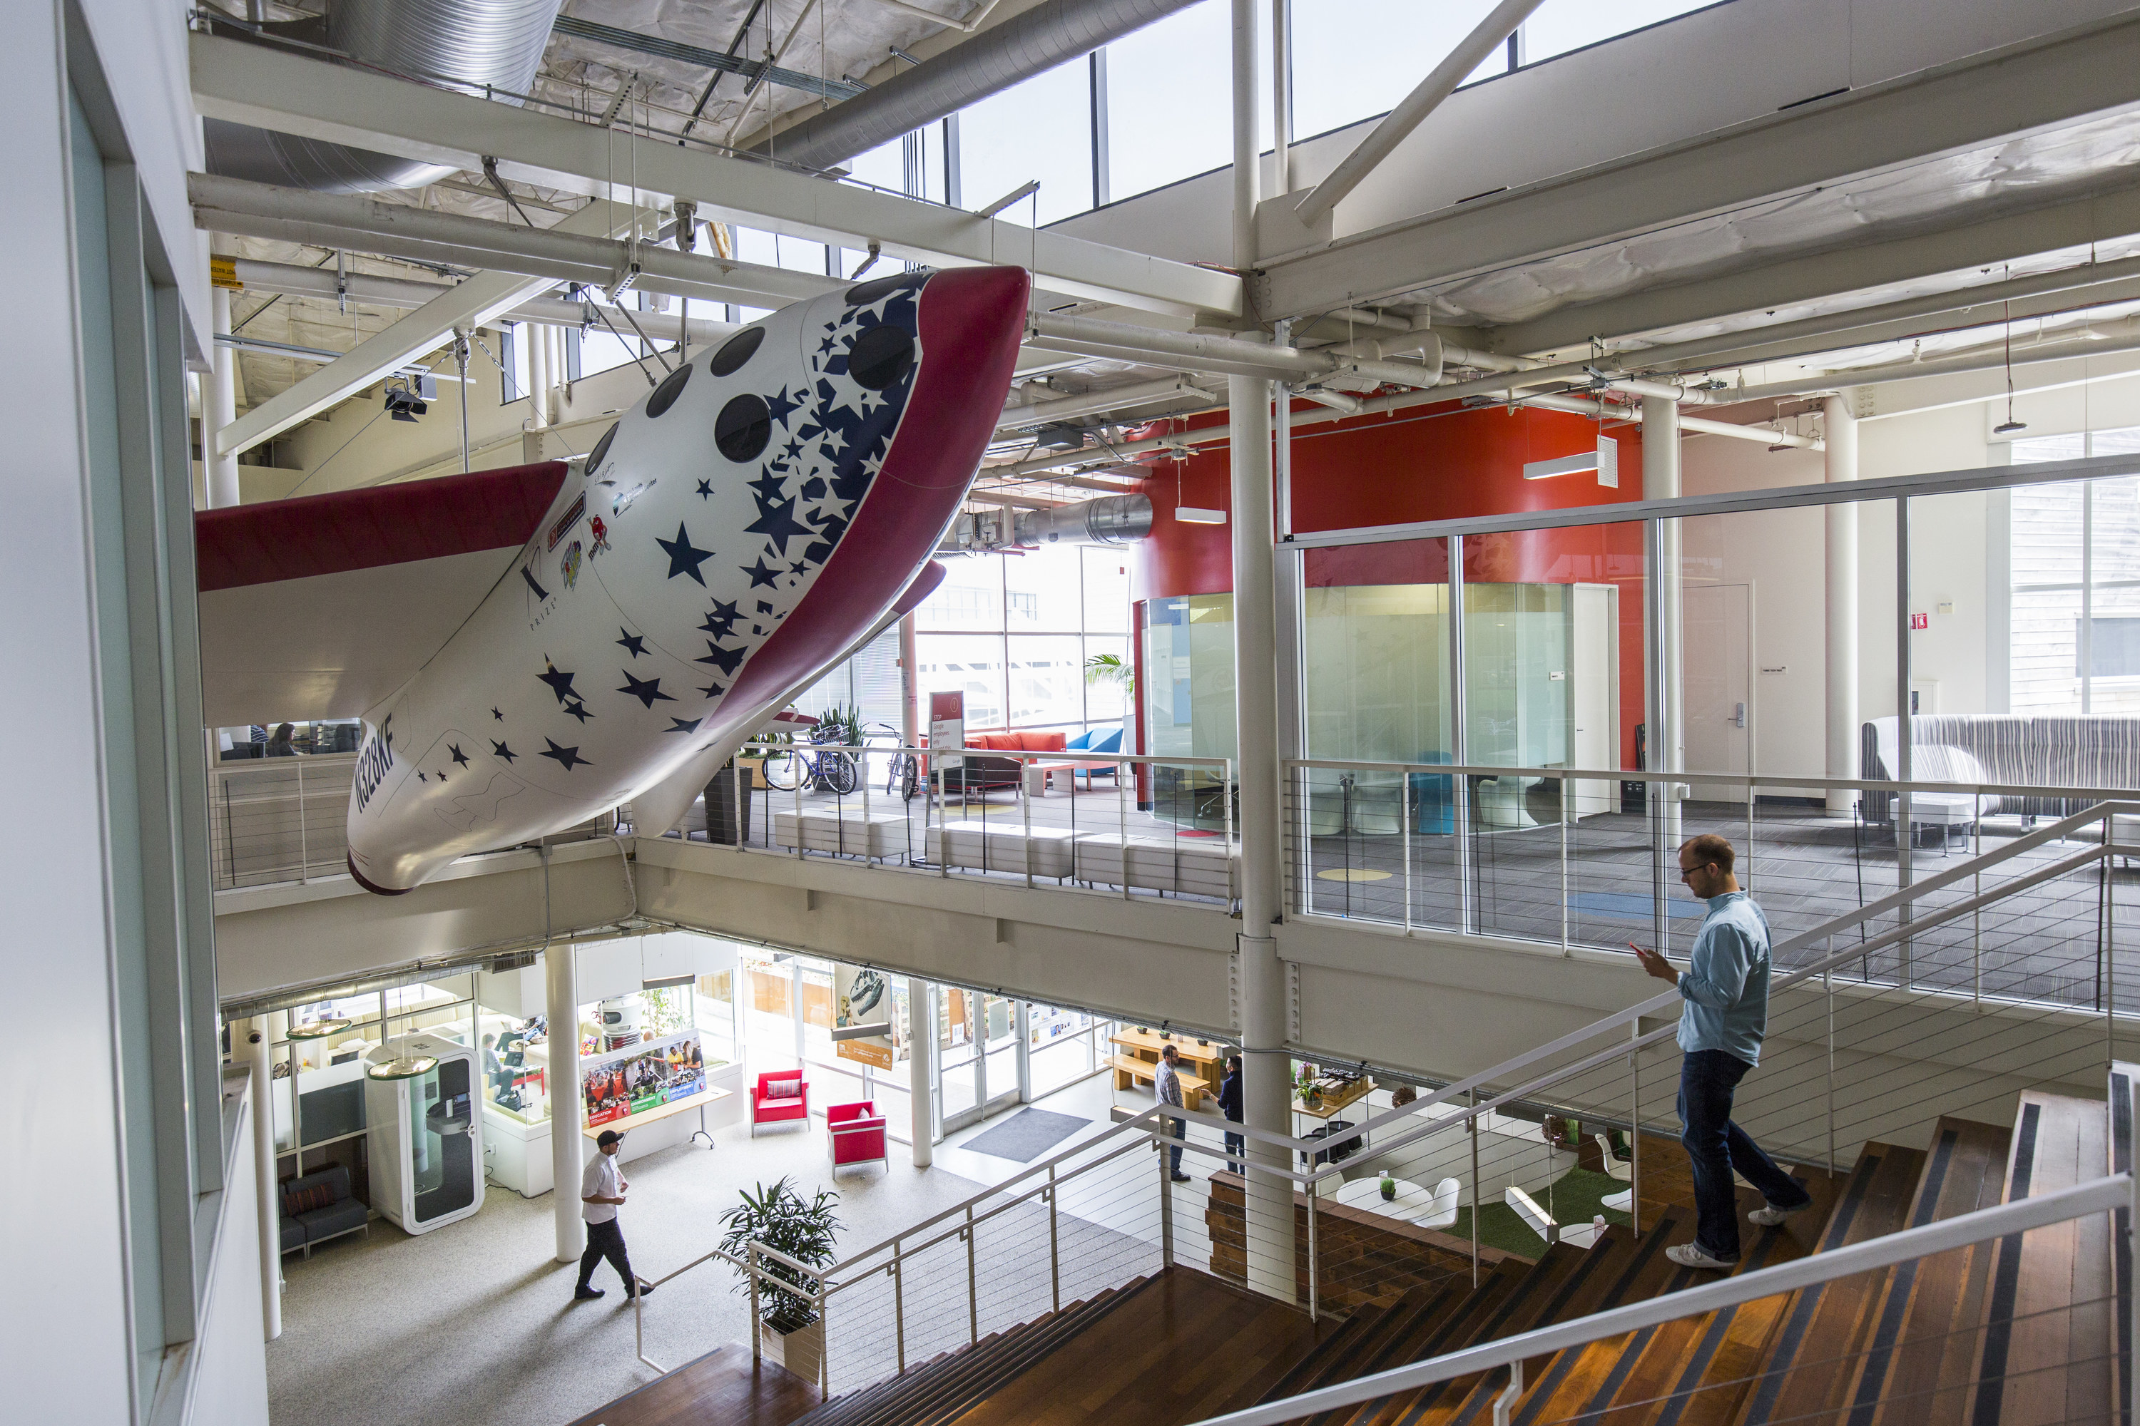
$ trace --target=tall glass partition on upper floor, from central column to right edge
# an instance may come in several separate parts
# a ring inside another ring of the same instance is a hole
[[[2136,451],[2031,464],[2016,445],[2005,468],[1609,524],[1590,507],[1297,534],[1288,913],[1684,951],[1706,906],[1676,849],[1716,832],[1785,941],[2140,789],[2136,472]],[[1224,596],[1153,601],[1145,652],[1156,742],[1203,753],[1233,669],[1198,614],[1230,635]],[[1907,930],[1883,917],[1853,934]],[[1858,971],[2022,983],[1994,941],[1980,917]],[[2108,971],[2080,949],[2061,994],[2086,1001]]]

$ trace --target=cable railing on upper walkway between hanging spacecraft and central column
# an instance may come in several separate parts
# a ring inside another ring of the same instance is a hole
[[[1224,757],[751,742],[681,836],[1224,909],[1241,892],[1235,800]]]

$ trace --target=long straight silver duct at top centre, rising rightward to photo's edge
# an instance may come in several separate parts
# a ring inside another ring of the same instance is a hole
[[[828,169],[1057,64],[1083,60],[1094,49],[1113,45],[1124,34],[1186,11],[1194,2],[1044,0],[865,94],[832,105],[751,152],[807,169]],[[995,195],[982,195],[982,201],[991,197]]]

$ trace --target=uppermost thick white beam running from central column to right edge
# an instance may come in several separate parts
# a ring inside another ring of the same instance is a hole
[[[1271,257],[1256,310],[1378,301],[2140,109],[2140,11]]]

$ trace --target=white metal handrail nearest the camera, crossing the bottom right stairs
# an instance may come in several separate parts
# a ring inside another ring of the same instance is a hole
[[[1357,1407],[1363,1400],[1410,1392],[1415,1388],[1434,1385],[1436,1381],[1453,1381],[1455,1377],[1494,1370],[1496,1366],[1517,1366],[1524,1358],[1541,1358],[1566,1347],[1586,1347],[1624,1332],[1639,1332],[1644,1328],[1678,1321],[1682,1317],[1740,1306],[1759,1298],[1798,1291],[1800,1287],[1817,1287],[1821,1283],[1851,1276],[1853,1272],[1892,1268],[1913,1257],[1928,1257],[1950,1249],[1967,1249],[1977,1242],[2005,1238],[2007,1234],[2022,1234],[2033,1227],[2048,1227],[2052,1223],[2065,1223],[2095,1212],[2114,1212],[2119,1208],[2134,1208],[2131,1174],[2110,1174],[2084,1184],[2074,1184],[2072,1189],[2044,1193],[2042,1197],[1994,1204],[1992,1208],[1980,1208],[1975,1212],[1941,1219],[1922,1227],[1905,1227],[1896,1234],[1866,1238],[1864,1242],[1853,1242],[1840,1249],[1828,1249],[1825,1253],[1813,1253],[1774,1268],[1755,1268],[1718,1283],[1703,1283],[1701,1287],[1688,1287],[1684,1291],[1665,1293],[1646,1302],[1631,1302],[1605,1313],[1592,1313],[1590,1317],[1577,1317],[1549,1328],[1534,1328],[1530,1332],[1504,1336],[1479,1347],[1466,1347],[1447,1355],[1427,1358],[1425,1362],[1412,1362],[1410,1366],[1370,1373],[1367,1377],[1357,1377],[1352,1381],[1314,1392],[1301,1392],[1299,1396],[1284,1396],[1245,1411],[1228,1411],[1226,1415],[1213,1415],[1196,1422],[1196,1426],[1282,1426],[1284,1422],[1297,1422],[1318,1411]]]

